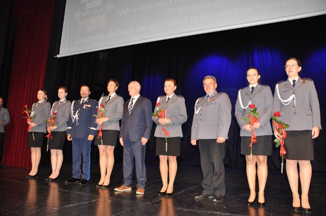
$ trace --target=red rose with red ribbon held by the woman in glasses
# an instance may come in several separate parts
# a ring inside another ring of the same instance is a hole
[[[280,147],[280,157],[282,157],[281,173],[283,173],[283,156],[286,154],[286,150],[284,148],[284,139],[286,137],[286,131],[284,129],[288,128],[290,126],[285,124],[284,122],[280,121],[279,117],[281,117],[281,113],[280,112],[275,112],[273,114],[273,116],[271,116],[271,119],[273,120],[273,125],[274,125],[275,129],[282,136],[282,139],[276,138],[274,140],[274,142],[275,142],[276,147],[281,146]]]

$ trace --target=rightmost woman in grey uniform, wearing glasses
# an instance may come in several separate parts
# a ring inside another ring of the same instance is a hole
[[[320,110],[314,82],[299,76],[300,60],[289,58],[285,64],[286,81],[275,87],[273,113],[280,111],[279,120],[290,127],[285,129],[286,173],[292,191],[292,211],[311,213],[308,192],[311,179],[311,160],[314,160],[314,139],[319,135]],[[281,135],[274,130],[276,138]],[[300,173],[297,170],[300,166]],[[301,202],[298,194],[298,178],[301,181]],[[301,203],[301,205],[300,205]],[[301,208],[302,206],[302,208]]]

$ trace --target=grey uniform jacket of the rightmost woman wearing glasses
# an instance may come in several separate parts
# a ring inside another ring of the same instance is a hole
[[[299,77],[294,87],[289,80],[279,82],[275,87],[273,113],[278,111],[279,120],[290,126],[286,131],[321,129],[319,101],[311,79],[304,82]]]

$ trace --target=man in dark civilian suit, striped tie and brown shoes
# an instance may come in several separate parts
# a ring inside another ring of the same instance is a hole
[[[128,85],[131,99],[123,104],[122,121],[120,127],[120,144],[123,146],[123,184],[115,191],[131,191],[133,163],[135,161],[137,176],[136,194],[145,193],[146,143],[150,139],[152,130],[152,103],[140,95],[141,85],[132,81]]]

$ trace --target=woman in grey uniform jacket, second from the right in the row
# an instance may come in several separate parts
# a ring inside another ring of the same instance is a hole
[[[260,75],[257,68],[249,68],[247,71],[248,87],[241,88],[235,104],[235,117],[240,126],[241,154],[246,155],[247,179],[250,189],[250,197],[247,204],[253,205],[256,199],[256,173],[258,174],[258,205],[265,204],[264,189],[267,180],[267,156],[271,155],[271,126],[270,116],[273,107],[273,95],[268,85],[260,83]],[[259,113],[260,120],[253,126],[245,122],[241,117],[248,117],[249,105],[254,104]],[[255,131],[256,143],[251,147],[251,132]],[[257,170],[256,170],[257,163]]]

